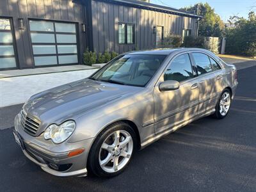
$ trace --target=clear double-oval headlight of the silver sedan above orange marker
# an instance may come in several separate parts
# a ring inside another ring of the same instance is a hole
[[[61,125],[52,124],[44,132],[45,140],[52,140],[53,143],[62,143],[74,132],[76,123],[68,120]]]

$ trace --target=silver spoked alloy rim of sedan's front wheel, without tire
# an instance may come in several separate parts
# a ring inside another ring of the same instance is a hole
[[[109,134],[100,147],[99,164],[102,170],[115,173],[129,162],[133,150],[131,134],[118,130]]]

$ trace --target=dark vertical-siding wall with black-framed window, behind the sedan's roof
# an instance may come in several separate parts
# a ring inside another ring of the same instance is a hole
[[[118,22],[132,22],[135,24],[135,44],[118,45]],[[192,29],[196,35],[196,19],[169,13],[156,12],[111,4],[102,1],[92,1],[93,49],[97,52],[132,51],[139,49],[153,49],[156,45],[156,34],[153,26],[164,26],[164,35],[173,33],[182,35],[182,29]]]

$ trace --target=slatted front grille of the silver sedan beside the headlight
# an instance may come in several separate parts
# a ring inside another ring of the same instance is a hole
[[[40,122],[38,122],[37,120],[29,118],[29,116],[23,109],[20,112],[20,122],[22,124],[23,129],[32,135],[36,134],[36,131],[38,130],[40,125]]]

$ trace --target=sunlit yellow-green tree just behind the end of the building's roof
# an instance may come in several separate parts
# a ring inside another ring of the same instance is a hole
[[[181,8],[180,10],[195,12],[203,17],[199,22],[198,35],[219,37],[222,35],[225,24],[208,3],[197,3],[193,6]]]

